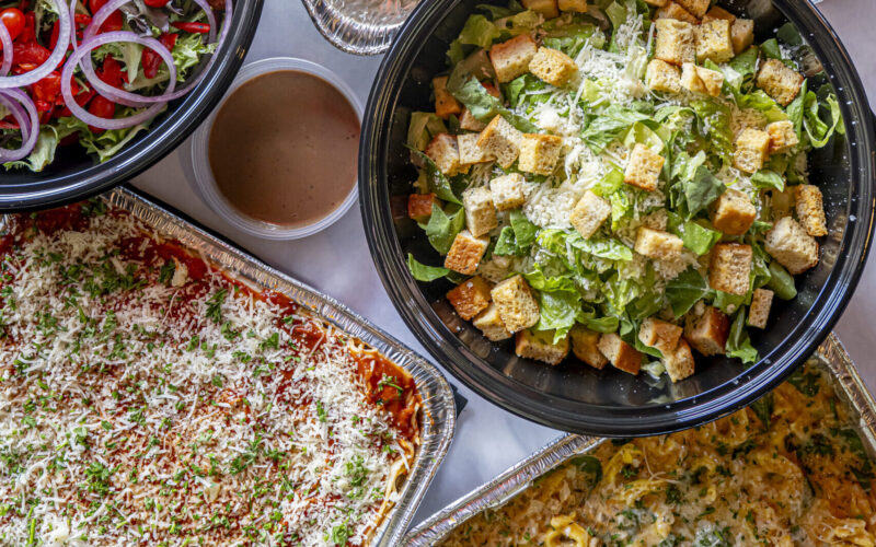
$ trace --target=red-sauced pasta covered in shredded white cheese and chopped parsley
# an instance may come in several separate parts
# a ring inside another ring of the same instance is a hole
[[[410,374],[101,201],[7,221],[1,546],[369,544]]]

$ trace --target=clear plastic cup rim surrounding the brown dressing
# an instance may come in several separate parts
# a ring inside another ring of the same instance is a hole
[[[306,226],[290,228],[254,219],[238,210],[219,190],[219,187],[216,185],[216,179],[212,176],[212,168],[210,167],[209,142],[210,132],[212,131],[212,124],[216,119],[216,113],[219,112],[228,97],[231,96],[231,94],[238,88],[240,88],[241,84],[258,75],[279,70],[296,70],[299,72],[313,74],[325,80],[342,95],[344,95],[344,97],[346,97],[359,118],[359,125],[361,125],[361,103],[349,85],[347,85],[337,74],[327,68],[323,67],[322,65],[316,65],[312,61],[296,59],[292,57],[273,57],[269,59],[262,59],[245,65],[240,70],[238,77],[234,79],[234,82],[231,84],[231,88],[229,88],[224,98],[222,98],[210,116],[204,121],[204,124],[200,125],[197,131],[195,131],[195,135],[192,139],[192,167],[194,170],[196,189],[200,194],[204,201],[210,209],[214,210],[214,212],[230,222],[232,225],[243,232],[264,237],[266,240],[298,240],[300,237],[307,237],[308,235],[315,234],[316,232],[328,228],[335,221],[337,221],[337,219],[343,217],[344,213],[346,213],[349,208],[353,207],[353,203],[355,203],[358,198],[358,184],[354,184],[353,189],[349,191],[349,195],[347,195],[346,199],[344,199],[344,201],[336,209],[325,217]],[[356,182],[354,181],[354,183]]]

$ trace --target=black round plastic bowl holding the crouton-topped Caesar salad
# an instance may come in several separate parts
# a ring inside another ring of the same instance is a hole
[[[362,129],[359,194],[368,243],[383,284],[419,341],[493,403],[578,433],[632,437],[687,429],[735,411],[782,382],[837,323],[861,277],[873,233],[874,118],[849,55],[827,21],[807,1],[725,3],[757,20],[761,40],[786,21],[797,26],[835,89],[846,132],[810,155],[810,179],[825,194],[830,235],[822,242],[819,266],[797,279],[799,295],[776,303],[769,329],[752,335],[761,361],[745,368],[738,360],[699,358],[698,372],[673,385],[611,366],[551,368],[520,359],[511,344],[487,342],[453,313],[443,299],[449,284],[417,283],[407,271],[408,253],[440,264],[423,231],[405,214],[416,178],[404,148],[408,117],[430,108],[430,79],[445,69],[448,44],[483,1],[420,3],[383,60]]]

